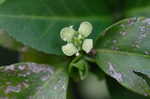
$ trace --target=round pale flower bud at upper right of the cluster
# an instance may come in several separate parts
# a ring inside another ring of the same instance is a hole
[[[80,27],[79,27],[79,33],[83,36],[83,37],[87,37],[89,36],[91,33],[92,33],[92,24],[89,23],[89,22],[82,22],[80,24]]]

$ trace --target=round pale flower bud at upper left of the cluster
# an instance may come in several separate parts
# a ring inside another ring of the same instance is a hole
[[[75,30],[71,27],[65,27],[60,32],[60,37],[64,41],[71,41],[75,34]]]

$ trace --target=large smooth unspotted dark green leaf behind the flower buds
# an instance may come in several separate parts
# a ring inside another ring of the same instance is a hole
[[[5,0],[0,5],[0,28],[25,45],[62,55],[60,30],[90,21],[95,38],[111,22],[107,7],[105,0]]]

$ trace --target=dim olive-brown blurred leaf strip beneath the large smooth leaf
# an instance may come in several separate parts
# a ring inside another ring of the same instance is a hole
[[[24,46],[14,40],[5,31],[0,30],[0,46],[7,48],[9,50],[14,50],[19,52],[19,61],[23,62],[36,62],[39,64],[50,64],[52,66],[62,67],[66,66],[69,62],[68,57],[57,56],[46,54],[30,47]],[[3,52],[1,52],[3,53]],[[6,55],[4,55],[6,56]],[[50,61],[51,60],[51,61]]]

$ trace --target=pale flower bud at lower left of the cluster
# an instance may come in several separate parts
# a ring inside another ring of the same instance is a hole
[[[72,43],[62,46],[62,51],[67,56],[72,56],[78,52],[77,48]]]

